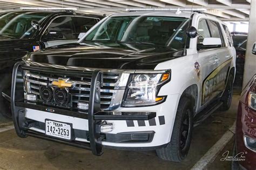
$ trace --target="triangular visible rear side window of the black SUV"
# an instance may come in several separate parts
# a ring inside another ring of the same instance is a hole
[[[76,29],[76,39],[78,39],[82,38],[81,36],[83,36],[88,30],[90,30],[93,25],[98,23],[98,20],[96,18],[73,17],[73,22]]]

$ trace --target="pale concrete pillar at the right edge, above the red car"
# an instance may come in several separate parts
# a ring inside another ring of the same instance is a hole
[[[252,47],[256,41],[256,0],[251,1],[251,12],[249,19],[249,30],[247,47],[245,54],[245,69],[244,69],[244,81],[242,83],[242,88],[246,86],[248,81],[256,74],[256,55],[252,54]]]

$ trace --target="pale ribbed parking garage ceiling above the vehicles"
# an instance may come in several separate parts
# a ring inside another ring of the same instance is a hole
[[[111,13],[124,12],[129,8],[203,8],[205,13],[221,20],[248,20],[250,3],[255,0],[0,0],[0,11],[20,8],[76,8],[79,12]]]

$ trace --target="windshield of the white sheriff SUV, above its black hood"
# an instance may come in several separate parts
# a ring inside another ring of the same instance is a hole
[[[188,19],[162,16],[109,17],[83,42],[123,42],[184,48]]]

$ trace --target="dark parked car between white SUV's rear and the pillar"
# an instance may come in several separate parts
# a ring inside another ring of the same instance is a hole
[[[242,80],[244,77],[244,65],[245,65],[245,53],[247,44],[247,35],[245,34],[235,34],[232,36],[235,51],[237,51],[237,61],[236,68],[237,73],[235,75],[234,87],[237,89],[242,88]]]

